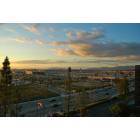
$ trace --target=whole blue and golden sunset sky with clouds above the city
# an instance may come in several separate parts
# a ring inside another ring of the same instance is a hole
[[[1,23],[0,66],[93,68],[140,64],[140,24]]]

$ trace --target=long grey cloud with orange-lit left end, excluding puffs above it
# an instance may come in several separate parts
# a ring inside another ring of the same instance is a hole
[[[120,56],[139,56],[139,43],[74,43],[74,42],[55,42],[55,45],[68,45],[70,49],[63,49],[65,54],[76,56],[95,56],[95,57],[120,57]],[[59,49],[58,49],[59,51]],[[62,51],[62,49],[61,49]],[[71,53],[69,53],[71,52]]]

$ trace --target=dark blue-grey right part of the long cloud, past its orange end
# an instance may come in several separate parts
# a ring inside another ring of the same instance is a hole
[[[90,51],[101,57],[128,57],[140,55],[140,43],[107,42],[92,44]]]

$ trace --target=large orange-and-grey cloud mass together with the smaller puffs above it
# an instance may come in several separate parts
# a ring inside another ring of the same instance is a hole
[[[105,36],[102,30],[94,30],[91,32],[79,31],[75,33],[75,38],[72,38],[72,32],[67,32],[67,36],[68,40],[66,41],[49,42],[51,46],[65,46],[65,48],[55,49],[59,56],[116,57],[123,58],[123,60],[129,57],[129,59],[133,59],[133,61],[137,58],[138,61],[138,56],[140,55],[140,43],[105,42],[102,40]]]

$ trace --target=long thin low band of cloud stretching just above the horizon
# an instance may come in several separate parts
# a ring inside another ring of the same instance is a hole
[[[58,66],[58,67],[65,67],[66,65],[69,66],[69,65],[72,65],[72,66],[83,66],[83,67],[86,67],[87,65],[89,67],[92,67],[92,66],[104,66],[107,65],[107,66],[111,66],[111,65],[114,65],[116,66],[118,64],[118,61],[117,60],[111,60],[111,59],[107,59],[107,60],[95,60],[95,59],[90,59],[90,60],[21,60],[21,61],[13,61],[12,64],[14,65],[26,65],[26,66],[49,66],[49,67],[52,67],[52,66]],[[123,65],[123,61],[121,63],[119,63],[119,65]]]

